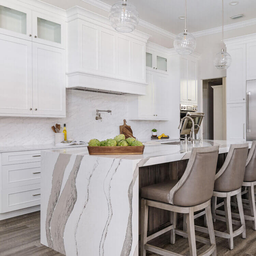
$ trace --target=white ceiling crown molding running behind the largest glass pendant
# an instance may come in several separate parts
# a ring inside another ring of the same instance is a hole
[[[111,8],[111,5],[103,3],[100,0],[81,0],[81,1],[83,1],[85,3],[88,3],[88,4],[91,4],[91,5],[94,5],[94,6],[100,8],[100,9],[102,9],[104,11],[107,11],[107,12],[109,12],[110,8]],[[144,27],[146,29],[150,29],[150,30],[152,30],[152,31],[154,31],[154,32],[156,32],[158,34],[161,34],[161,35],[163,35],[163,36],[165,36],[167,38],[170,38],[172,40],[174,40],[175,37],[176,37],[175,34],[169,32],[169,31],[167,31],[165,29],[159,28],[159,27],[157,27],[157,26],[155,26],[155,25],[153,25],[151,23],[146,22],[145,20],[142,20],[142,19],[140,19],[140,21],[139,21],[139,26]]]

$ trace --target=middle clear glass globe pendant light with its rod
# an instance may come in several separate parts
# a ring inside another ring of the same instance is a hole
[[[193,53],[196,48],[194,35],[187,32],[187,0],[185,0],[185,29],[176,36],[173,45],[177,53],[186,55]]]

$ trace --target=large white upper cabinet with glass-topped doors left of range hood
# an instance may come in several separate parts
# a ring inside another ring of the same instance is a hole
[[[65,117],[65,20],[0,5],[0,116]]]

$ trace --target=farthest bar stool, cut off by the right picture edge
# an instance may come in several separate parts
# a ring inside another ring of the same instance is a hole
[[[254,186],[256,185],[256,141],[253,141],[251,150],[247,156],[246,167],[244,173],[243,186],[248,187],[243,194],[249,193],[249,200],[242,199],[242,202],[248,203],[249,205],[243,205],[244,208],[251,210],[251,215],[244,215],[244,218],[252,221],[252,228],[256,230],[256,209],[255,209],[255,195]],[[238,218],[238,214],[232,213],[232,216]]]

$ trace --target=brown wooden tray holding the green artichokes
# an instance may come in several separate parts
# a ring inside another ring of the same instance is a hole
[[[90,155],[142,155],[145,146],[115,146],[115,147],[90,147],[88,146]]]

